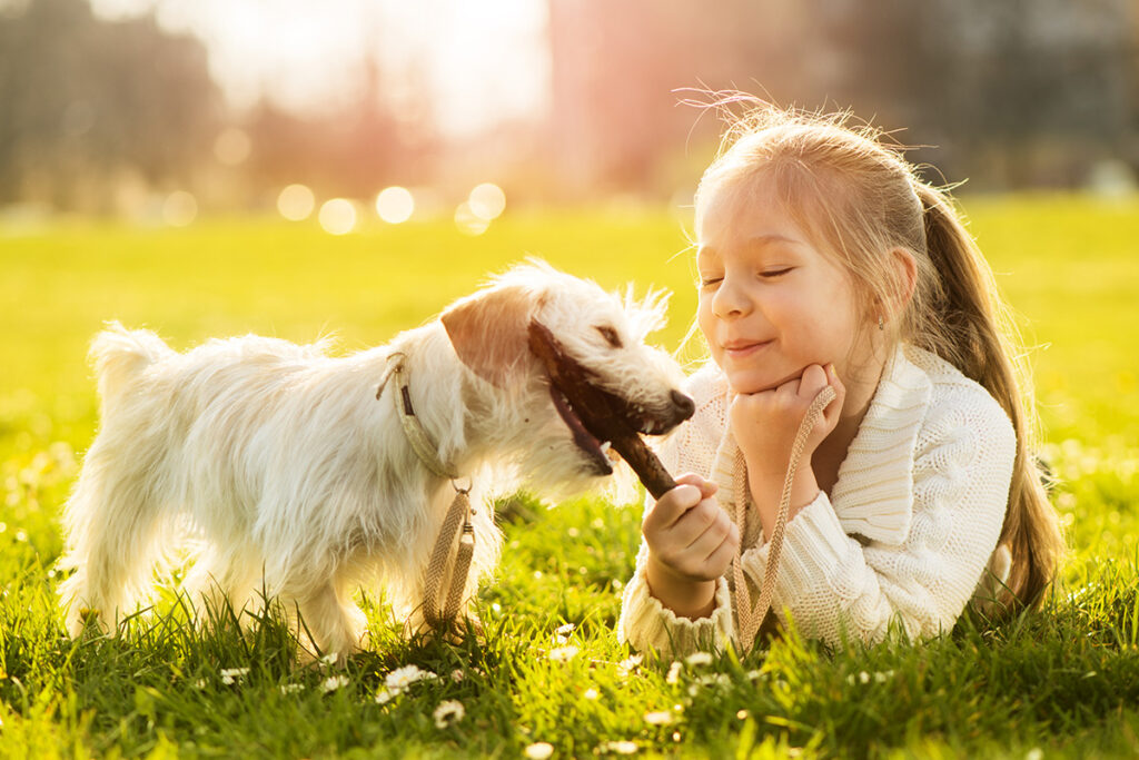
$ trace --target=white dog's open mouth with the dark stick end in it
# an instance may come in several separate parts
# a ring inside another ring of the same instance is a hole
[[[673,391],[670,407],[649,411],[599,386],[596,373],[573,359],[541,322],[530,324],[530,349],[546,367],[554,408],[598,475],[613,472],[609,458],[620,453],[654,496],[671,477],[638,433],[666,433],[693,415],[688,397]],[[612,449],[609,448],[612,444]]]

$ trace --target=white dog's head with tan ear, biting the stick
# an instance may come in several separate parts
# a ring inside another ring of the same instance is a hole
[[[613,472],[608,442],[662,434],[693,414],[677,363],[646,337],[665,297],[636,300],[530,261],[442,316],[462,363],[518,401],[523,469],[543,482]]]

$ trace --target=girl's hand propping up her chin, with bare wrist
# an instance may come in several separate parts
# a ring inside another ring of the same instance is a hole
[[[770,536],[775,528],[795,433],[798,432],[811,402],[827,385],[835,389],[835,400],[826,406],[806,438],[792,485],[789,517],[819,495],[819,484],[811,468],[811,455],[838,424],[846,389],[835,374],[834,365],[827,365],[826,368],[811,365],[797,379],[770,391],[740,393],[732,400],[729,410],[731,428],[747,461],[748,487],[765,536]]]

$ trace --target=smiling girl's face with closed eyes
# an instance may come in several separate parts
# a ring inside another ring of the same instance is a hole
[[[870,358],[859,346],[855,289],[776,199],[770,182],[754,191],[713,190],[703,206],[696,265],[697,320],[712,358],[736,393],[796,378],[834,363],[843,382]]]

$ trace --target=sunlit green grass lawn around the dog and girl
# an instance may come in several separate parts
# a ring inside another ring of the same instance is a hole
[[[375,345],[527,254],[618,287],[675,292],[659,336],[695,308],[682,226],[661,213],[515,214],[478,238],[450,224],[345,238],[272,220],[188,230],[68,223],[0,229],[0,757],[1134,757],[1139,753],[1139,203],[967,198],[973,231],[1035,346],[1042,449],[1073,547],[1046,610],[962,622],[923,645],[828,652],[795,636],[743,662],[622,662],[621,585],[640,513],[588,497],[499,515],[507,549],[478,600],[482,640],[403,641],[366,597],[374,652],[337,675],[293,664],[269,614],[206,632],[166,591],[120,638],[72,643],[52,599],[59,508],[93,436],[84,361],[107,319],[188,348],[256,332]],[[679,255],[677,255],[679,254]],[[1047,346],[1047,348],[1043,348]],[[558,629],[573,623],[558,639]],[[565,647],[576,647],[576,653]],[[559,657],[558,655],[563,656]],[[386,676],[440,678],[378,703]],[[248,668],[223,683],[222,671]],[[286,688],[282,688],[286,687]],[[464,718],[436,727],[457,700]],[[646,716],[650,720],[646,719]],[[666,722],[662,722],[666,721]],[[631,744],[630,744],[631,743]]]

